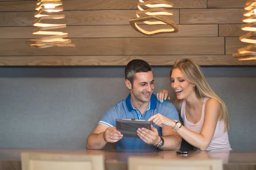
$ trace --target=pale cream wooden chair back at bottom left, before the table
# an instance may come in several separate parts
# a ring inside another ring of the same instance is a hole
[[[104,170],[102,155],[21,153],[22,170]]]

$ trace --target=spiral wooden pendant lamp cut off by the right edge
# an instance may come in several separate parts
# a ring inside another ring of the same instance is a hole
[[[256,39],[252,38],[256,36],[256,0],[247,0],[244,9],[246,11],[243,14],[243,22],[246,24],[242,25],[241,29],[248,33],[240,36],[239,40],[250,45],[239,48],[238,53],[233,54],[233,57],[238,60],[251,60],[256,59]]]

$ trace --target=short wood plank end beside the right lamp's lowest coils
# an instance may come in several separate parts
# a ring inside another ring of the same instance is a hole
[[[238,48],[246,47],[248,43],[241,42],[239,37],[226,37],[225,38],[225,51],[226,55],[238,53]]]

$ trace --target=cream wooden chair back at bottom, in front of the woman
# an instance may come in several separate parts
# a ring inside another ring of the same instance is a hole
[[[157,159],[131,156],[128,170],[222,170],[221,159]]]

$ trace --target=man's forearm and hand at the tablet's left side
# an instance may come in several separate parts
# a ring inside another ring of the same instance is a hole
[[[88,136],[87,149],[104,149],[108,142],[115,143],[122,139],[122,134],[116,130],[116,127],[98,124],[93,132]]]

